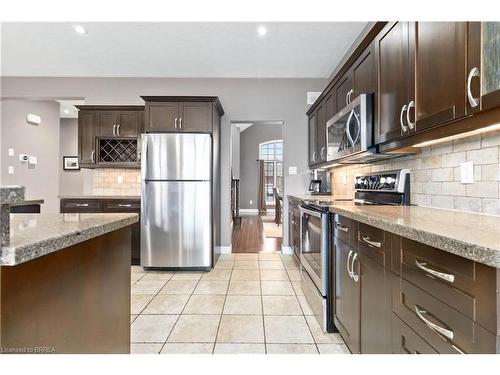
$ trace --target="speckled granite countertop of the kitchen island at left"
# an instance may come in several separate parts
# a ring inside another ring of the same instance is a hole
[[[15,266],[134,224],[137,214],[14,214],[0,266]]]

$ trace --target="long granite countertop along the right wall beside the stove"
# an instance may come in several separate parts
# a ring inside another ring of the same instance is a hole
[[[332,196],[321,196],[321,199],[332,201],[330,211],[333,213],[500,268],[500,216],[421,206],[356,205]]]

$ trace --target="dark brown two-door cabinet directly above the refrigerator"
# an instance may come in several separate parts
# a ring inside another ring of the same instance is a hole
[[[146,132],[211,133],[212,111],[224,111],[217,97],[143,96]]]

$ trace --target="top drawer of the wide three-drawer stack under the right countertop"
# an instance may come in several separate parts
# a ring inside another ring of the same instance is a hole
[[[403,278],[497,332],[494,268],[406,238],[400,256]]]

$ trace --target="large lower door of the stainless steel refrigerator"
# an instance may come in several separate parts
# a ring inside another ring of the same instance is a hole
[[[141,266],[211,267],[211,183],[142,182]]]

